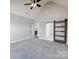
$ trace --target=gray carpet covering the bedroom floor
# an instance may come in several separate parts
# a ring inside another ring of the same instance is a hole
[[[68,59],[68,47],[41,39],[24,40],[11,44],[10,59]]]

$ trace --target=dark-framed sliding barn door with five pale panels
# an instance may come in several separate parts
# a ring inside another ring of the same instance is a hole
[[[67,19],[54,21],[54,41],[66,43],[67,41]]]

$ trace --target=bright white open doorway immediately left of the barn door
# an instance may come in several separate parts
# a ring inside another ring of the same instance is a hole
[[[53,23],[46,23],[46,39],[54,41],[53,39]]]

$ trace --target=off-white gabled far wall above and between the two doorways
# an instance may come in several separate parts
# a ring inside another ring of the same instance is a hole
[[[46,26],[45,22],[53,22],[54,20],[64,20],[68,18],[68,10],[66,7],[48,2],[39,12],[36,22],[39,24],[39,38],[46,38]]]

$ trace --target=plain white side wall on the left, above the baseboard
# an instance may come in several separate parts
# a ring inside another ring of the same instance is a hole
[[[10,40],[11,43],[29,39],[31,36],[31,24],[32,20],[15,15],[10,14]]]

